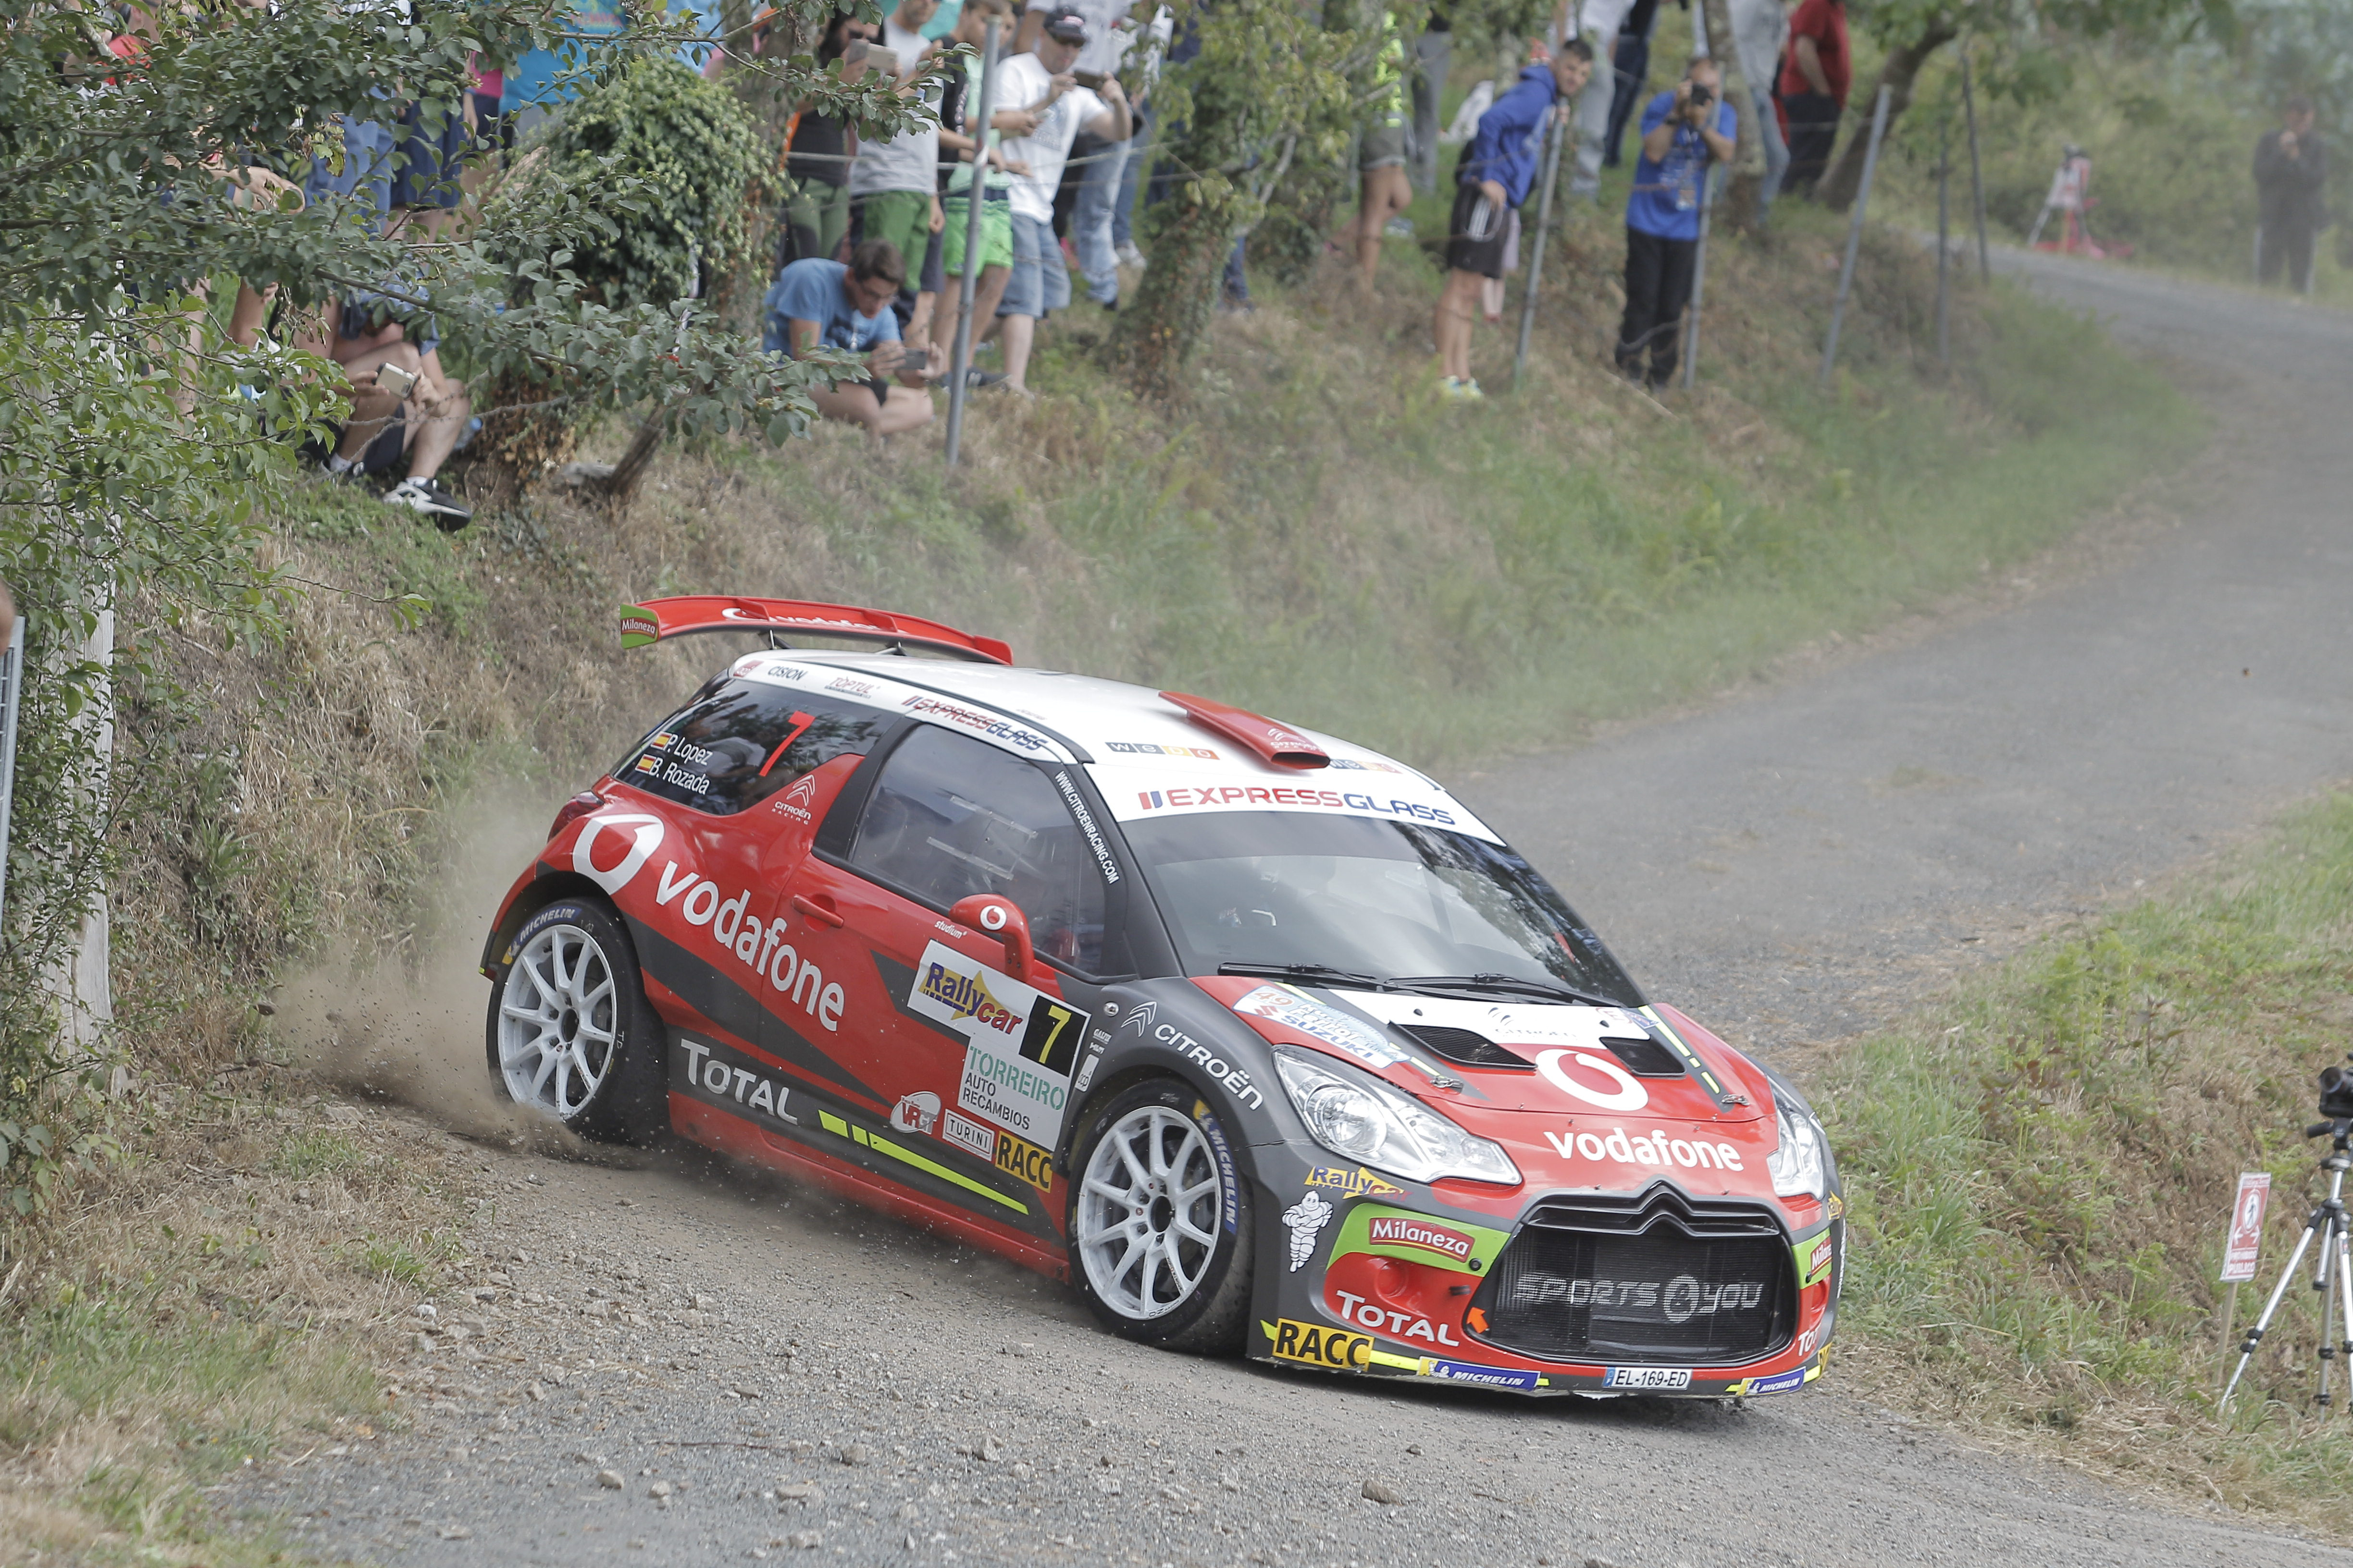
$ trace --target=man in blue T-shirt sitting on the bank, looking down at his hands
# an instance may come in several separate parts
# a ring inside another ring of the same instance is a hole
[[[849,252],[849,266],[802,256],[776,275],[767,299],[762,348],[795,360],[809,348],[842,348],[866,355],[866,381],[814,386],[809,397],[826,418],[866,425],[875,435],[899,435],[932,423],[932,400],[922,388],[922,364],[906,357],[899,315],[889,308],[906,282],[906,261],[889,240],[866,240]],[[906,386],[892,386],[896,374]]]

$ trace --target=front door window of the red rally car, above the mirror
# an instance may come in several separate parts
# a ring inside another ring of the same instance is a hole
[[[1104,875],[1052,780],[993,745],[920,726],[882,764],[852,870],[934,910],[995,893],[1021,907],[1038,952],[1104,964]]]

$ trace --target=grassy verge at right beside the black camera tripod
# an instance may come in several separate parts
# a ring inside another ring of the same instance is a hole
[[[1842,1375],[2071,1462],[2346,1535],[2306,1286],[2217,1415],[2224,1222],[2271,1171],[2259,1288],[2322,1197],[2299,1133],[2353,1046],[2353,795],[2224,872],[2047,940],[1840,1056]],[[2240,1295],[2238,1328],[2261,1307]],[[2344,1366],[2339,1363],[2339,1401]]]

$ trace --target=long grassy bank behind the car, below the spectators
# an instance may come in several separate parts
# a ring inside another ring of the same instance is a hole
[[[1955,364],[1937,364],[1929,273],[1889,237],[1868,244],[1840,381],[1814,393],[1835,244],[1802,212],[1769,247],[1720,244],[1701,390],[1664,402],[1609,374],[1619,235],[1579,214],[1518,395],[1508,336],[1482,329],[1482,407],[1435,402],[1435,270],[1398,242],[1365,303],[1329,268],[1261,284],[1184,407],[1129,397],[1096,355],[1106,317],[1080,308],[1035,400],[974,404],[958,475],[934,433],[821,430],[781,454],[668,451],[621,510],[551,484],[459,538],[304,487],[275,550],[332,590],[282,646],[132,618],[186,682],[125,712],[141,797],[118,1004],[158,1114],[5,1237],[0,1267],[24,1267],[0,1286],[0,1368],[26,1392],[0,1401],[0,1441],[26,1540],[233,1561],[264,1547],[207,1544],[202,1483],[384,1425],[376,1347],[454,1262],[471,1175],[405,1133],[280,1117],[301,1093],[282,1067],[318,1041],[273,1034],[256,1001],[336,957],[480,1006],[489,882],[720,658],[621,658],[619,604],[922,611],[1026,661],[1449,764],[1574,741],[1951,595],[2195,449],[2200,418],[2151,369],[2019,296],[1965,294]],[[412,592],[431,602],[414,628],[391,607]],[[336,1039],[346,1077],[402,1093],[369,1044]]]

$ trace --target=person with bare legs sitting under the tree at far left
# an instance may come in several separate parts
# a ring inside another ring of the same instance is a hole
[[[327,306],[294,348],[332,360],[351,381],[351,414],[332,433],[325,468],[339,480],[388,475],[407,461],[407,477],[384,491],[386,505],[431,517],[445,534],[473,522],[473,508],[440,487],[442,463],[473,421],[466,383],[440,364],[431,315],[379,320],[381,301],[353,296]]]

